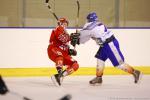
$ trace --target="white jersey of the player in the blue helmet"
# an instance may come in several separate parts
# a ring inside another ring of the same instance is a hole
[[[80,43],[83,44],[92,38],[99,44],[99,42],[105,42],[105,40],[112,35],[113,33],[101,22],[89,22],[86,23],[80,31]]]

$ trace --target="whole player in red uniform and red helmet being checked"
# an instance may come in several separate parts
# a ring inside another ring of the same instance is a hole
[[[75,56],[77,52],[69,47],[70,36],[66,31],[68,24],[65,18],[58,20],[57,27],[52,30],[47,48],[48,56],[55,63],[58,71],[58,74],[51,76],[51,79],[59,86],[63,77],[72,74],[79,67],[77,61],[71,57],[71,55]],[[65,70],[63,70],[63,66],[66,66]]]

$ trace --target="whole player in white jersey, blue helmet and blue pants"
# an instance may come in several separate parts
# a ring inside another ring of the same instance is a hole
[[[96,77],[89,81],[90,84],[102,83],[105,61],[107,59],[109,59],[116,68],[132,74],[134,76],[134,82],[138,83],[141,72],[135,70],[125,62],[124,56],[120,51],[118,40],[115,38],[113,32],[98,21],[95,12],[91,12],[87,15],[87,23],[79,33],[71,34],[71,44],[73,46],[83,44],[91,38],[99,45],[99,50],[95,55],[97,58]]]

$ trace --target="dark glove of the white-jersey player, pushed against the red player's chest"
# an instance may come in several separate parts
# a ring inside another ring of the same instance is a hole
[[[75,47],[76,44],[80,44],[79,43],[79,36],[80,33],[71,33],[70,35],[70,39],[71,39],[71,45]]]

